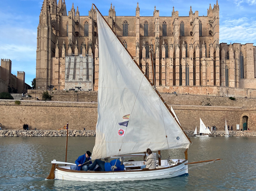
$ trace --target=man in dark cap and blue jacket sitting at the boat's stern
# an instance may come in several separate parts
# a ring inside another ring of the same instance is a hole
[[[86,151],[86,153],[84,155],[81,155],[78,157],[77,160],[75,160],[75,164],[77,164],[77,166],[71,166],[70,168],[72,170],[83,170],[83,171],[87,171],[88,168],[91,167],[92,165],[92,161],[91,161],[91,152],[90,151]],[[82,168],[81,168],[82,167]]]

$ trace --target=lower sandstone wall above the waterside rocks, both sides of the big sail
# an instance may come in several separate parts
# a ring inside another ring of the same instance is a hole
[[[69,122],[70,129],[95,130],[97,123],[97,103],[21,101],[16,105],[13,100],[0,100],[0,123],[5,129],[22,129],[24,123],[30,129],[59,129]],[[206,126],[216,126],[224,130],[225,119],[233,130],[236,124],[242,128],[243,116],[248,116],[248,128],[256,130],[256,107],[196,106],[173,105],[173,108],[186,130],[199,128],[199,118]]]

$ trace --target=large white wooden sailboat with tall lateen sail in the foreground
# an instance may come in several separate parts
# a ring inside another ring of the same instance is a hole
[[[96,10],[99,86],[98,119],[92,160],[121,156],[146,157],[146,154],[138,153],[145,152],[147,148],[158,151],[159,154],[160,150],[186,149],[185,158],[159,158],[155,169],[140,169],[143,161],[124,162],[125,170],[110,172],[71,170],[72,163],[53,160],[47,179],[88,182],[136,181],[170,178],[188,173],[187,164],[190,163],[187,161],[187,150],[191,144],[190,138],[146,73],[117,38],[99,10]],[[56,167],[56,164],[60,163],[67,165]]]

